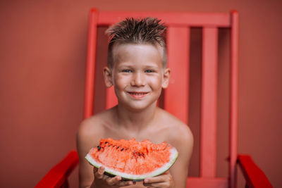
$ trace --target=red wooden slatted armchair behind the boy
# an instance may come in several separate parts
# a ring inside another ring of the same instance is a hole
[[[168,67],[173,70],[171,83],[164,94],[164,108],[188,123],[189,39],[190,27],[202,27],[202,111],[200,139],[200,177],[188,177],[187,187],[235,187],[235,165],[243,170],[246,187],[272,187],[250,156],[238,155],[238,12],[231,13],[148,13],[97,11],[90,13],[85,115],[93,114],[94,73],[97,26],[111,25],[125,17],[157,17],[168,26],[166,33]],[[228,178],[216,177],[216,80],[219,27],[231,30],[230,139]],[[176,50],[177,49],[177,50]],[[177,62],[177,63],[175,63]],[[181,92],[175,92],[179,89]],[[173,103],[169,102],[173,99]],[[112,89],[106,91],[106,108],[114,106]],[[67,176],[78,163],[76,151],[52,168],[36,187],[68,187]]]

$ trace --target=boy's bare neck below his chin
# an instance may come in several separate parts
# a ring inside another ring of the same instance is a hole
[[[152,104],[143,111],[129,111],[123,106],[116,106],[116,118],[119,127],[125,127],[127,130],[140,131],[145,129],[155,118],[157,110],[156,104]]]

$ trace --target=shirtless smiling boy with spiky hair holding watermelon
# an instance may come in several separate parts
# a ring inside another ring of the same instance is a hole
[[[193,137],[185,123],[157,107],[161,89],[168,87],[166,46],[162,34],[166,27],[155,18],[126,18],[107,31],[108,66],[104,68],[106,87],[114,87],[118,105],[87,118],[78,130],[80,187],[186,187]],[[177,63],[177,62],[173,62]],[[176,91],[177,92],[177,91]],[[179,152],[176,163],[164,174],[143,182],[123,181],[104,175],[85,155],[101,138],[149,139],[155,144],[168,142]]]

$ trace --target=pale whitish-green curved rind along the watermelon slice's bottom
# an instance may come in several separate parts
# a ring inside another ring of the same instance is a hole
[[[170,151],[171,151],[171,156],[169,157],[168,163],[163,165],[161,168],[154,170],[152,173],[147,173],[147,174],[143,174],[143,175],[133,175],[133,174],[128,174],[128,173],[118,172],[118,171],[116,171],[112,168],[106,167],[105,165],[103,165],[103,166],[105,168],[105,172],[109,173],[110,175],[121,176],[121,177],[123,177],[123,180],[142,181],[147,177],[154,177],[154,176],[157,176],[157,175],[161,175],[162,173],[166,172],[166,170],[171,168],[171,166],[176,162],[176,159],[178,158],[178,151],[174,147]],[[102,166],[102,163],[95,161],[94,158],[92,158],[89,153],[87,153],[85,158],[87,159],[87,161],[90,164],[94,165],[94,167],[96,167],[96,168],[99,168],[100,166]]]

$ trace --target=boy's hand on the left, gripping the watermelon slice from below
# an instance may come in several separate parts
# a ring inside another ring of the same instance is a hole
[[[106,187],[124,187],[133,183],[133,181],[123,181],[120,176],[109,177],[104,175],[105,168],[101,166],[99,169],[94,168],[94,185],[96,187],[106,188]]]

